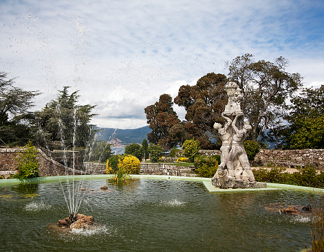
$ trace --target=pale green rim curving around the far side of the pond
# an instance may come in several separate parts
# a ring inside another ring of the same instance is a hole
[[[12,185],[19,183],[28,183],[28,182],[39,182],[39,183],[49,183],[49,182],[58,182],[58,181],[72,181],[73,179],[111,179],[111,174],[97,174],[97,175],[75,175],[73,176],[42,176],[33,179],[24,179],[23,181],[19,179],[0,179],[1,185]],[[303,190],[314,193],[324,193],[324,189],[322,188],[314,188],[314,187],[305,187],[299,185],[285,185],[285,184],[277,184],[277,183],[267,183],[266,188],[239,188],[239,189],[220,189],[211,184],[210,178],[202,178],[202,177],[191,177],[191,176],[168,176],[168,175],[130,175],[131,179],[165,179],[165,180],[181,180],[181,181],[197,181],[202,182],[206,186],[207,190],[210,193],[221,193],[221,192],[246,192],[246,191],[267,191],[267,190]]]

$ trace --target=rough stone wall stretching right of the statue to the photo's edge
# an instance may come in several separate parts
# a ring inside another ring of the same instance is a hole
[[[324,149],[313,150],[260,150],[252,162],[254,166],[278,165],[288,168],[313,165],[324,170]]]

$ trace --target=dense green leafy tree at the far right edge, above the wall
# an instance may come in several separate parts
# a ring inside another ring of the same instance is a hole
[[[277,148],[324,148],[324,84],[318,89],[302,89],[291,99],[288,124],[272,130]]]

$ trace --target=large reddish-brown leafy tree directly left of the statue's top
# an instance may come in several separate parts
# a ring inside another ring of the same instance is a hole
[[[199,78],[195,86],[180,87],[174,102],[186,109],[185,128],[188,132],[182,139],[199,139],[202,148],[211,148],[210,137],[217,138],[213,130],[215,122],[222,122],[220,117],[227,103],[225,92],[226,76],[220,73],[207,73]],[[183,141],[182,141],[183,143]]]

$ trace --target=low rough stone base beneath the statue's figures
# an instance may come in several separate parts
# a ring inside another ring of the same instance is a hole
[[[221,179],[222,180],[222,179]],[[237,179],[228,179],[227,181],[220,181],[218,177],[211,179],[212,185],[222,189],[226,188],[266,188],[267,183],[242,181]]]

